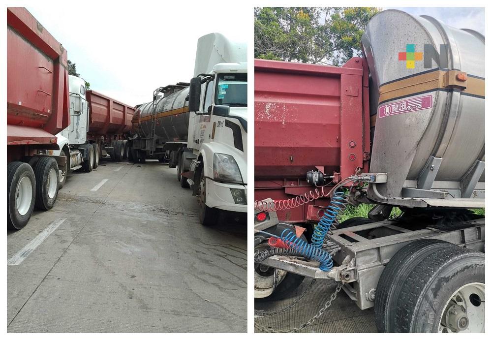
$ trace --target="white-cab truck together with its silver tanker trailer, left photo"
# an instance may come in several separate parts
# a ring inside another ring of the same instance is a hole
[[[138,106],[130,158],[167,160],[182,187],[192,187],[199,219],[214,225],[221,211],[246,213],[246,44],[220,33],[198,39],[195,77],[158,88]]]

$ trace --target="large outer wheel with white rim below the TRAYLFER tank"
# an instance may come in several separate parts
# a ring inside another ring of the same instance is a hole
[[[485,332],[485,254],[444,247],[420,262],[401,287],[398,333]]]

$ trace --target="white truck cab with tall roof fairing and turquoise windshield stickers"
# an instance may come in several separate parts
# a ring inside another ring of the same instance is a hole
[[[198,196],[200,221],[215,224],[220,211],[247,211],[246,44],[205,35],[196,61],[188,101],[187,147],[194,155],[188,183]]]

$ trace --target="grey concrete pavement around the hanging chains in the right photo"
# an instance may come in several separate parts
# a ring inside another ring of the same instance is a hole
[[[276,302],[255,301],[255,309],[266,311],[278,310],[291,304],[309,285],[310,279],[306,278],[303,283],[292,292],[285,300]],[[255,317],[255,321],[264,326],[282,330],[297,327],[306,322],[319,309],[335,290],[337,283],[332,280],[317,280],[306,297],[292,309],[273,316]],[[374,321],[373,309],[361,310],[350,298],[341,291],[332,307],[327,309],[323,315],[302,333],[375,333],[377,332]]]

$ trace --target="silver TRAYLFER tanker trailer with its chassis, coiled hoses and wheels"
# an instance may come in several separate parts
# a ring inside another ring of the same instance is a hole
[[[271,291],[286,289],[285,273],[337,281],[360,309],[374,308],[380,332],[484,332],[485,218],[470,209],[485,208],[485,37],[386,10],[362,45],[370,172],[334,186],[311,243],[278,222],[288,202],[255,202],[256,265],[275,269]],[[307,181],[327,185],[317,178]],[[348,203],[375,207],[335,228]],[[394,207],[402,214],[390,218]]]

